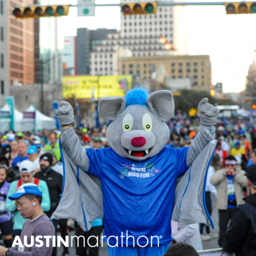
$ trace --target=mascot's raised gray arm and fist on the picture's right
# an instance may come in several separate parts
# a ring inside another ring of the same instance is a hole
[[[208,103],[208,98],[200,101],[198,110],[202,126],[189,147],[186,159],[188,166],[192,165],[201,151],[215,138],[214,125],[216,125],[218,113],[220,113],[218,108]]]

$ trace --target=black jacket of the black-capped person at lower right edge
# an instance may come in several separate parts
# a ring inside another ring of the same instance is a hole
[[[234,210],[223,242],[223,249],[236,256],[256,255],[256,193],[248,196],[246,204]]]

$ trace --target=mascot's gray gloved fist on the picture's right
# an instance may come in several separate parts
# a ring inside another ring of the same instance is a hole
[[[204,98],[199,102],[198,111],[200,114],[201,124],[205,126],[216,125],[218,113],[220,109],[208,103],[208,98]]]

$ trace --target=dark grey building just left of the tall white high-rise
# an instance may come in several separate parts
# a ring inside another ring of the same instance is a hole
[[[91,51],[95,51],[98,45],[102,44],[108,34],[117,33],[117,30],[98,28],[89,30],[88,28],[77,29],[77,75],[89,75]]]

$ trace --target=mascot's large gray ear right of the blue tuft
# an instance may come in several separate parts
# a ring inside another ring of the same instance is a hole
[[[153,113],[155,109],[164,122],[169,121],[174,115],[174,96],[170,90],[158,90],[150,94],[147,98],[147,105],[150,112]]]

